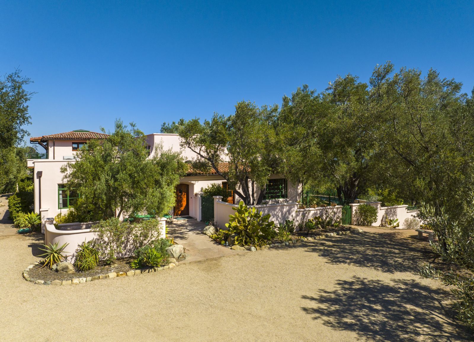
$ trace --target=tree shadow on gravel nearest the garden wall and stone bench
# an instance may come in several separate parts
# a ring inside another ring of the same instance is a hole
[[[370,267],[383,272],[418,273],[420,266],[433,261],[428,243],[396,233],[363,233],[332,237],[308,245],[328,263]]]

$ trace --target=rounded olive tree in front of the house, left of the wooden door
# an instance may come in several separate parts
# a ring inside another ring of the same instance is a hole
[[[117,120],[107,139],[91,140],[75,162],[61,169],[68,191],[80,196],[72,207],[83,219],[142,212],[162,216],[174,206],[175,187],[186,165],[179,152],[157,144],[149,156],[145,146],[142,131]]]

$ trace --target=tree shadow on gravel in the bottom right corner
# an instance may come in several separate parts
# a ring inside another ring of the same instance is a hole
[[[446,291],[414,280],[392,283],[353,277],[338,280],[334,291],[302,296],[315,307],[302,307],[314,320],[352,331],[369,341],[473,341],[474,334],[447,317]],[[441,313],[441,314],[440,314]]]

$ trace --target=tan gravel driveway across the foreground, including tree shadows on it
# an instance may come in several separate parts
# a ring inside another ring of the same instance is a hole
[[[1,341],[473,341],[428,244],[364,233],[137,277],[34,285],[41,235],[0,237]]]

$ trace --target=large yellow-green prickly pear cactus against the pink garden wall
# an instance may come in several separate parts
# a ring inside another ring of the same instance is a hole
[[[269,221],[270,214],[262,216],[262,212],[258,212],[255,207],[249,209],[243,201],[232,209],[236,213],[229,215],[226,227],[230,234],[236,234],[233,243],[248,246],[265,243],[275,237],[275,224]]]

